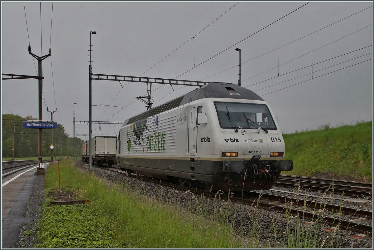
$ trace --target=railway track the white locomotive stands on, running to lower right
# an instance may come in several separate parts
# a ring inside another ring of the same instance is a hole
[[[108,168],[105,165],[105,167],[99,166],[99,168],[102,168],[107,171],[113,171],[119,174],[128,175],[131,177],[136,177],[135,174],[125,173],[121,170],[115,169],[116,167]],[[183,189],[183,190],[190,190],[191,192],[200,192],[200,193],[203,193],[205,196],[209,196],[211,198],[215,198],[215,195],[216,195],[216,193],[207,193],[204,190],[191,189],[189,187],[181,187],[180,185],[176,185],[176,184],[169,183],[169,182],[163,182],[160,180],[155,180],[149,177],[142,176],[141,178],[148,182],[153,182],[159,185],[174,187],[174,188]],[[252,193],[252,195],[253,193],[255,193],[256,195],[260,194],[259,192],[248,192],[248,194],[250,193]],[[230,200],[232,202],[237,202],[239,204],[245,204],[245,205],[256,204],[258,208],[262,208],[262,209],[270,210],[270,211],[277,211],[279,213],[285,213],[287,211],[289,214],[292,214],[293,216],[298,216],[301,219],[309,220],[310,221],[309,223],[318,222],[324,225],[330,225],[332,227],[338,227],[340,229],[348,229],[351,231],[356,231],[356,232],[361,232],[361,233],[370,233],[372,231],[372,225],[360,223],[363,220],[372,219],[371,211],[359,210],[359,209],[354,209],[350,207],[342,207],[342,206],[337,206],[337,205],[332,205],[332,204],[325,204],[325,203],[316,202],[316,201],[288,198],[284,196],[268,195],[268,194],[262,194],[261,199],[267,198],[267,199],[271,199],[272,201],[275,200],[278,202],[282,202],[283,204],[276,204],[274,202],[263,202],[263,201],[259,201],[257,198],[249,199],[249,198],[240,198],[240,197],[235,197],[235,196],[229,197],[223,194],[220,194],[220,198]],[[290,205],[291,202],[294,204],[294,206],[297,205],[298,207],[292,207],[292,205]],[[311,210],[310,208],[312,208],[312,211],[309,211]],[[313,208],[318,208],[318,209],[313,210]],[[335,211],[336,214],[325,215],[324,211],[331,211],[331,212]],[[351,217],[354,219],[346,220],[345,218],[347,217],[347,215],[351,215]]]

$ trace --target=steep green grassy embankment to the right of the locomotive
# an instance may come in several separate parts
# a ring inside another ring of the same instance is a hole
[[[371,180],[372,122],[283,135],[285,158],[294,169],[283,174],[334,173]]]

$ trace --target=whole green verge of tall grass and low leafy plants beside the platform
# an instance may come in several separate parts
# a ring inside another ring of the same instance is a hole
[[[201,217],[152,199],[138,198],[125,187],[107,185],[91,173],[60,163],[61,187],[71,187],[84,205],[47,207],[39,221],[36,247],[242,247],[226,222]],[[57,164],[47,168],[45,187],[58,187]],[[77,232],[81,232],[80,236]]]

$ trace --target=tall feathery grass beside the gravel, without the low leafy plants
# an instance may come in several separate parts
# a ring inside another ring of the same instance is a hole
[[[225,223],[202,220],[179,207],[134,196],[124,186],[108,185],[92,173],[75,169],[71,161],[60,163],[60,182],[61,187],[71,187],[82,199],[91,200],[103,222],[115,222],[114,239],[123,247],[242,246],[232,237],[233,228]],[[58,187],[57,164],[47,168],[45,187]]]

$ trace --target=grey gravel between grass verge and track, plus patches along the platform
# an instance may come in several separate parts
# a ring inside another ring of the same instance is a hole
[[[83,169],[83,161],[76,161],[76,167]],[[160,186],[155,183],[144,182],[140,179],[127,177],[123,174],[113,173],[100,168],[93,168],[95,176],[101,177],[108,182],[119,183],[121,185],[127,185],[129,190],[133,190],[136,193],[145,195],[148,198],[156,199],[160,202],[167,202],[175,206],[180,206],[183,209],[190,211],[199,211],[204,213],[216,213],[217,210],[226,209],[228,211],[227,218],[233,223],[234,228],[237,232],[243,232],[244,236],[255,235],[259,239],[259,246],[254,247],[288,247],[282,246],[285,239],[287,238],[288,231],[293,229],[295,235],[300,236],[298,228],[303,228],[304,232],[310,232],[308,238],[315,238],[318,242],[318,246],[324,247],[367,247],[372,248],[372,236],[368,235],[367,238],[357,240],[350,238],[351,235],[357,235],[359,233],[345,230],[332,230],[330,232],[323,230],[329,226],[325,225],[304,225],[300,223],[297,217],[289,216],[287,223],[284,214],[279,214],[273,211],[266,211],[256,209],[256,204],[252,206],[237,205],[228,203],[224,200],[213,200],[211,198],[201,198],[190,191],[183,191],[179,189],[173,189],[171,187]],[[43,178],[38,178],[35,182],[33,196],[30,198],[30,202],[27,207],[26,216],[36,216],[40,218],[42,202],[45,201],[45,193],[43,187]],[[21,229],[19,237],[20,241],[17,247],[33,247],[37,242],[36,224],[30,223],[24,225]],[[306,229],[309,228],[309,229]],[[33,233],[30,235],[24,235],[25,232]],[[276,234],[274,234],[274,231]],[[276,235],[276,236],[275,236]],[[245,238],[245,237],[244,237]]]

